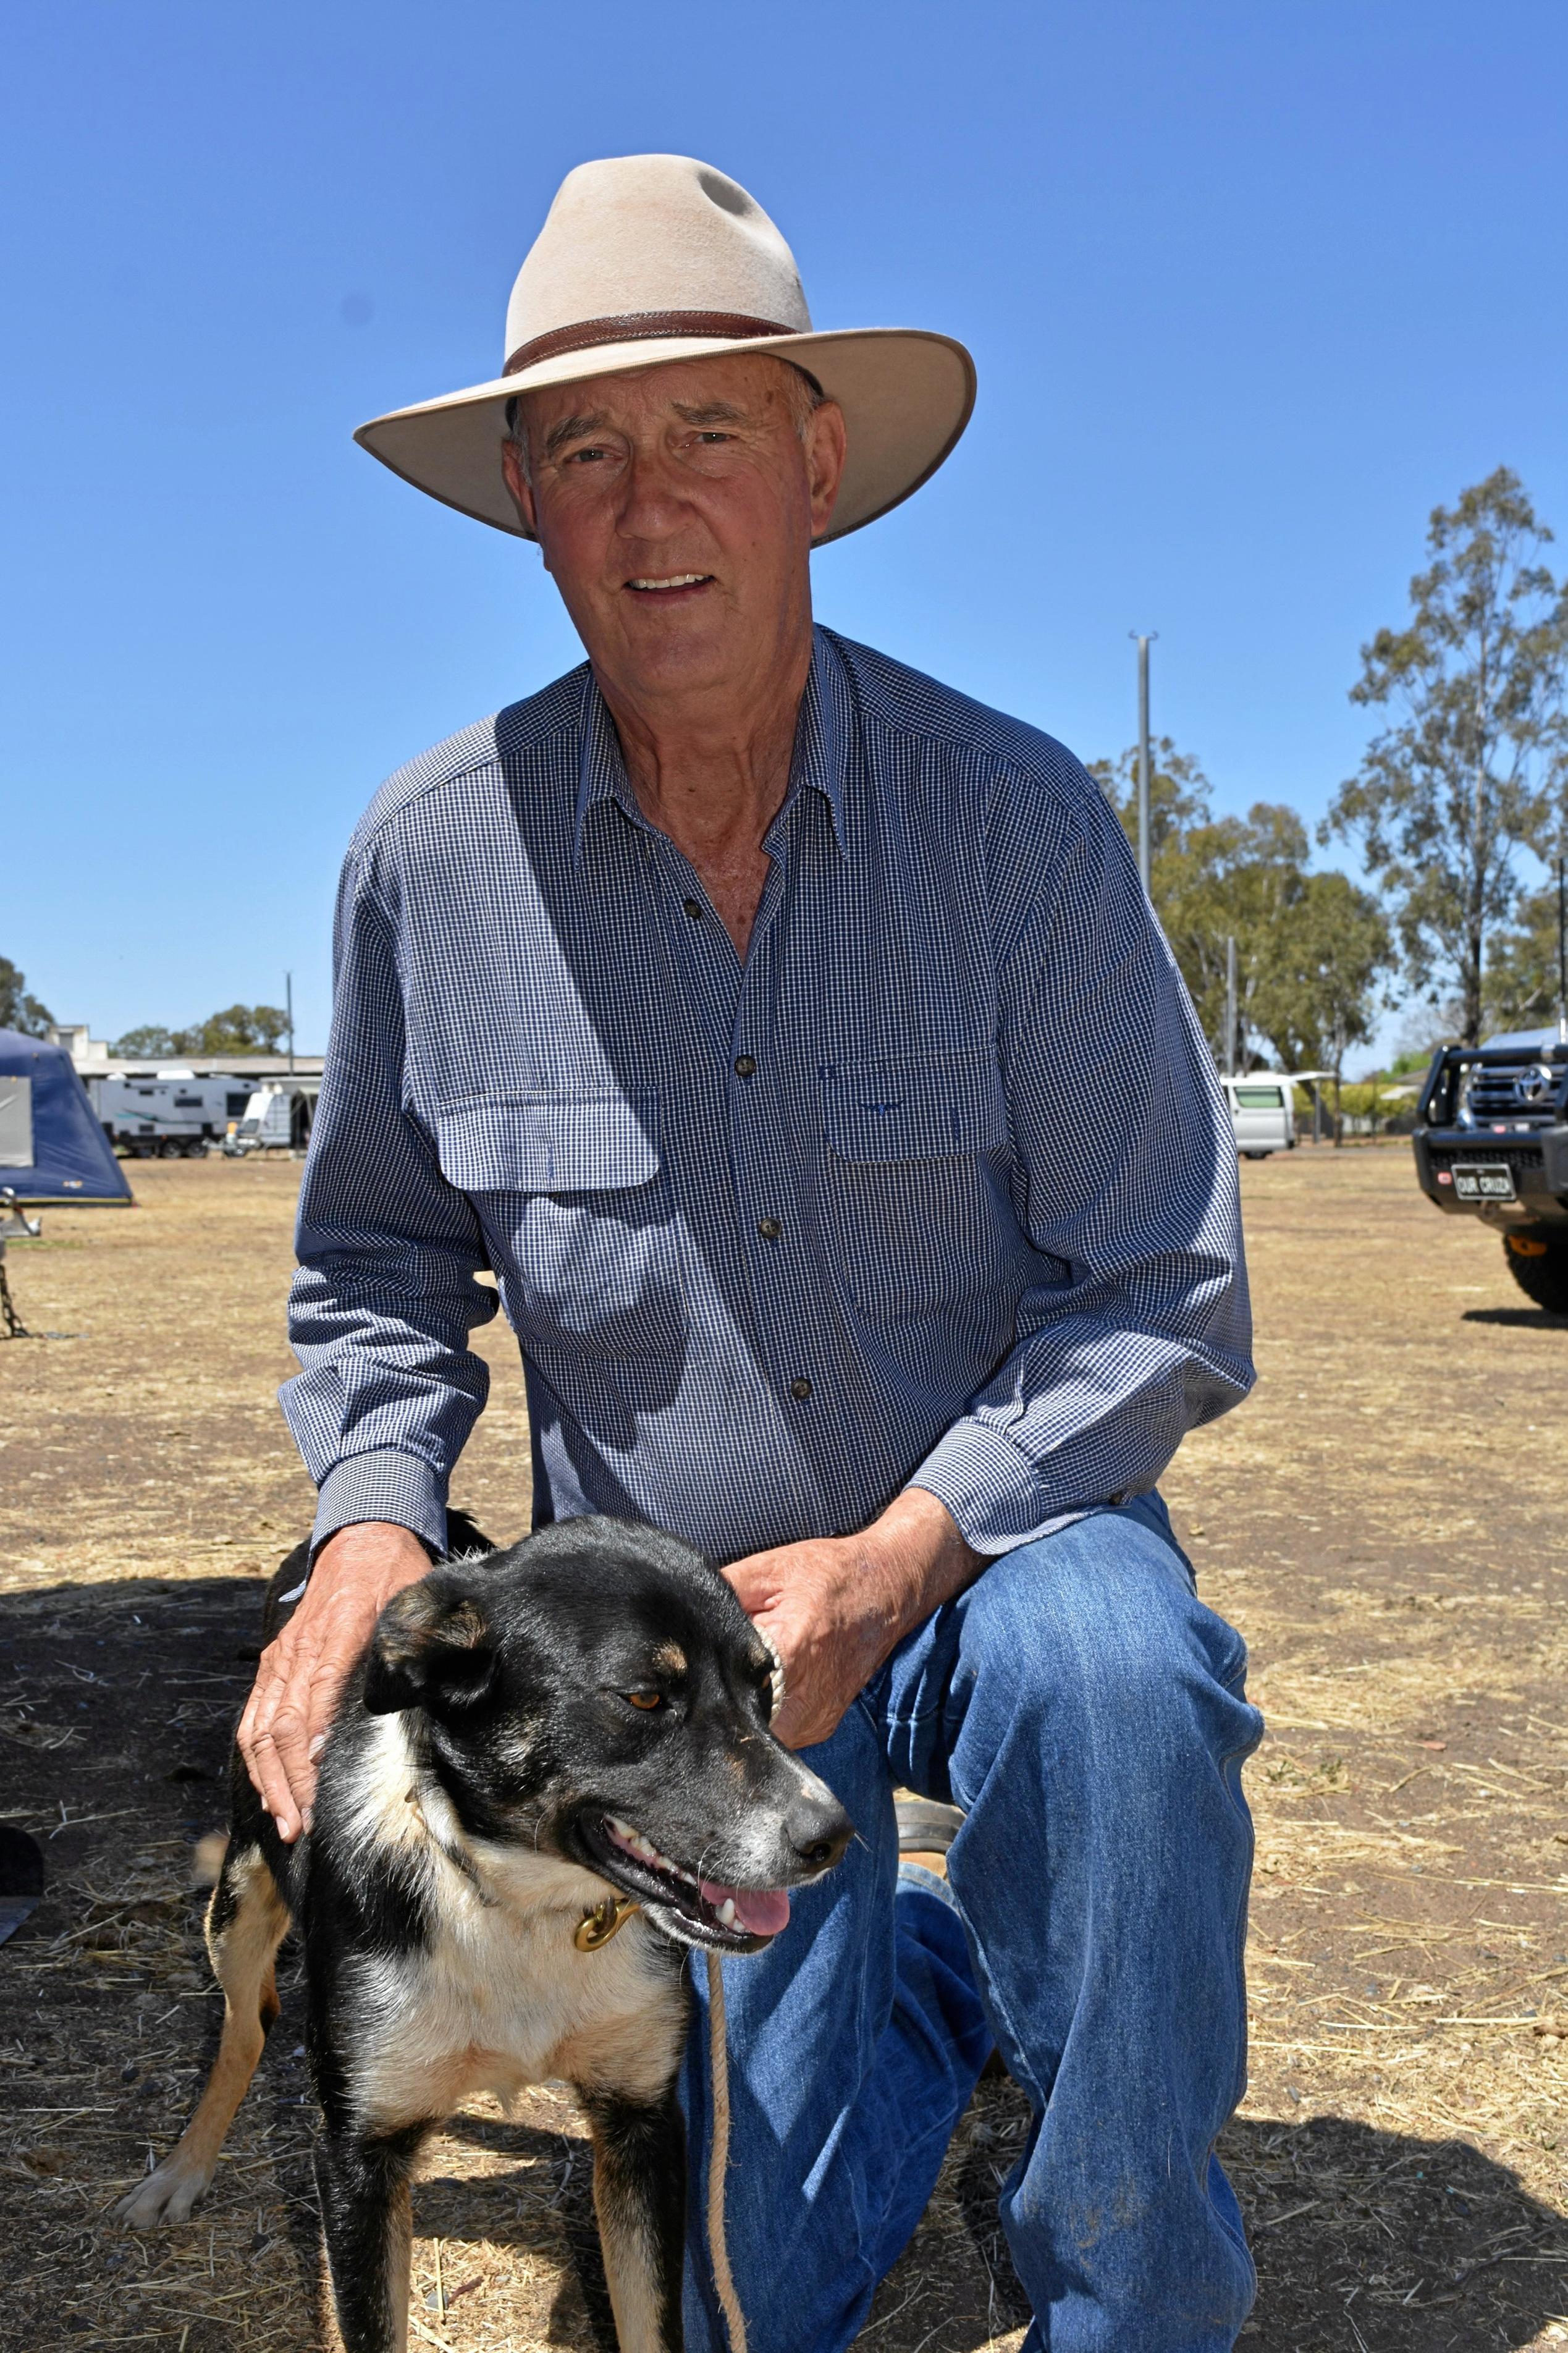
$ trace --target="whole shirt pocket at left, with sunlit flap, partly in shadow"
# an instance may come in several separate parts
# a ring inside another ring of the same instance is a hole
[[[433,1125],[440,1169],[473,1200],[523,1346],[662,1365],[678,1379],[680,1240],[657,1094],[487,1099]]]

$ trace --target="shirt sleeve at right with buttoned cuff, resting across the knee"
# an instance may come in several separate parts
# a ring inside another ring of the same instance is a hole
[[[1154,1487],[1253,1386],[1236,1139],[1099,795],[1019,915],[1001,1052],[1038,1280],[1010,1355],[909,1480],[989,1555]]]

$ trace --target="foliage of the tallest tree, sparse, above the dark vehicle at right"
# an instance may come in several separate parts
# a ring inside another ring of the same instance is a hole
[[[1408,979],[1457,986],[1467,1045],[1519,896],[1516,852],[1544,852],[1566,824],[1568,588],[1540,562],[1549,539],[1507,466],[1434,508],[1410,621],[1377,631],[1351,687],[1403,720],[1373,739],[1318,833],[1361,842],[1394,899]]]

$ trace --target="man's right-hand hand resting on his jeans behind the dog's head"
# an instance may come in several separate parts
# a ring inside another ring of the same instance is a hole
[[[984,1567],[935,1494],[906,1487],[862,1537],[751,1553],[725,1569],[746,1617],[784,1659],[775,1732],[810,1748],[883,1659]]]

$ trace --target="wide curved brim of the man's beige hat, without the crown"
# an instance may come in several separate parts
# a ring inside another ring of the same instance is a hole
[[[353,438],[443,506],[511,532],[513,539],[532,539],[501,480],[511,398],[546,384],[589,384],[631,367],[737,358],[749,351],[793,360],[845,414],[850,449],[833,520],[819,544],[876,522],[930,480],[975,407],[975,362],[963,344],[921,327],[852,327],[841,334],[775,334],[739,344],[718,336],[600,344],[539,360],[516,376],[494,376],[440,400],[421,400],[412,409],[372,416]]]

